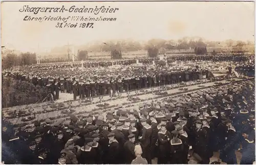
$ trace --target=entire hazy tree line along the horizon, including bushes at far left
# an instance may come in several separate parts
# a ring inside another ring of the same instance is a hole
[[[246,46],[252,45],[252,50],[247,50]],[[164,39],[151,39],[146,42],[139,42],[134,40],[119,40],[119,41],[105,41],[105,42],[95,42],[91,45],[84,45],[79,47],[78,55],[76,60],[87,60],[88,52],[109,52],[109,55],[115,58],[120,58],[121,52],[133,52],[147,50],[148,56],[155,57],[157,54],[168,54],[168,52],[178,50],[178,53],[195,53],[195,54],[205,54],[206,49],[214,48],[216,52],[223,52],[223,46],[231,48],[233,52],[249,51],[254,52],[254,43],[251,41],[234,41],[226,40],[223,42],[219,41],[205,41],[200,37],[184,37],[179,40],[164,40]],[[199,48],[199,49],[198,49]],[[116,51],[114,51],[116,50]],[[117,54],[118,56],[113,56]],[[120,54],[120,55],[119,55]],[[63,55],[64,56],[64,55]],[[52,56],[52,58],[42,58],[40,63],[49,62],[68,62],[72,61],[71,55],[66,59],[66,57]],[[35,53],[21,53],[19,55],[9,51],[5,56],[2,56],[2,67],[10,68],[12,66],[22,66],[36,64],[36,54]]]

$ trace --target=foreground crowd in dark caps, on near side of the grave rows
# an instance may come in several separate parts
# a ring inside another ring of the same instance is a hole
[[[240,164],[252,164],[254,99],[254,80],[246,80],[190,93],[176,101],[140,104],[129,110],[119,105],[116,110],[79,119],[71,115],[62,122],[37,121],[32,132],[24,124],[14,135],[8,126],[2,134],[2,160],[129,164],[152,163],[157,157],[159,164],[208,164],[213,152],[220,150],[223,162],[237,164],[235,151],[239,150]]]

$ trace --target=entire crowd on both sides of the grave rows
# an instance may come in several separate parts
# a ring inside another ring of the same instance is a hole
[[[215,62],[204,61],[208,58],[204,55],[194,56],[192,63],[188,58],[178,57],[175,63],[167,62],[166,66],[153,66],[145,61],[140,61],[143,65],[133,65],[129,60],[123,60],[127,65],[116,61],[116,64],[109,62],[110,66],[82,69],[80,65],[44,64],[4,70],[2,75],[47,86],[54,100],[58,99],[56,90],[73,93],[76,99],[210,78],[211,71],[221,67],[228,67],[229,73],[231,64],[236,64],[234,70],[239,74],[254,77],[254,64],[239,54],[233,58],[220,55],[208,59]],[[252,78],[231,81],[174,100],[165,98],[130,109],[119,104],[109,111],[84,113],[80,117],[70,114],[66,121],[38,119],[32,131],[26,123],[14,128],[3,119],[2,161],[6,164],[209,164],[219,151],[222,162],[237,164],[236,151],[239,151],[240,164],[252,164],[254,83]]]

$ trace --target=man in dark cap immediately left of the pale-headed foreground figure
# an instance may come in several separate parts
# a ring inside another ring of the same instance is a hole
[[[124,150],[124,158],[125,161],[123,163],[125,164],[131,164],[133,159],[136,158],[134,148],[135,148],[135,135],[130,134],[128,136],[129,140],[127,140],[124,145],[123,145],[123,150]]]

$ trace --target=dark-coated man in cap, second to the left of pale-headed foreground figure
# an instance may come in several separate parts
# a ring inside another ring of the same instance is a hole
[[[108,150],[105,153],[105,162],[104,164],[119,164],[122,163],[120,159],[120,150],[119,143],[115,139],[115,133],[111,132],[108,134],[109,146]]]

